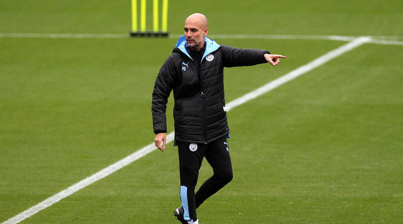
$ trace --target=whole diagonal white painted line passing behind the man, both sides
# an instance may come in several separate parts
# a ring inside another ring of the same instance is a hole
[[[264,93],[266,93],[268,91],[270,91],[270,90],[273,90],[274,88],[276,88],[276,87],[278,87],[278,86],[280,86],[280,85],[282,85],[282,84],[284,84],[284,83],[286,83],[286,82],[288,82],[288,81],[290,81],[290,80],[292,80],[292,79],[294,79],[294,78],[296,78],[296,77],[298,77],[298,76],[300,76],[300,75],[302,75],[304,73],[307,73],[307,72],[317,68],[318,66],[321,66],[324,63],[326,63],[326,62],[328,62],[328,61],[330,61],[330,60],[332,60],[332,59],[334,59],[334,58],[336,58],[336,57],[338,57],[338,56],[340,56],[340,55],[342,55],[342,54],[344,54],[344,53],[346,53],[348,51],[351,51],[352,49],[354,49],[354,48],[356,48],[356,47],[358,47],[358,46],[360,46],[360,45],[362,45],[362,44],[364,44],[364,43],[366,43],[366,42],[368,42],[370,40],[371,40],[371,38],[369,38],[369,37],[356,38],[353,41],[351,41],[351,42],[349,42],[349,43],[347,43],[345,45],[342,45],[341,47],[339,47],[339,48],[337,48],[335,50],[332,50],[332,51],[326,53],[325,55],[320,56],[319,58],[309,62],[308,64],[306,64],[306,65],[304,65],[304,66],[302,66],[302,67],[300,67],[300,68],[298,68],[298,69],[296,69],[296,70],[294,70],[294,71],[292,71],[292,72],[290,72],[290,73],[288,73],[286,75],[283,75],[283,76],[281,76],[281,77],[279,77],[279,78],[277,78],[277,79],[275,79],[275,80],[263,85],[262,87],[254,90],[252,92],[249,92],[249,93],[247,93],[247,94],[245,94],[245,95],[243,95],[243,96],[241,96],[241,97],[239,97],[239,98],[237,98],[235,100],[232,100],[226,106],[234,108],[234,107],[239,106],[239,105],[241,105],[243,103],[246,103],[247,101],[249,101],[251,99],[254,99],[254,98],[256,98],[256,97],[258,97],[258,96],[260,96],[260,95],[262,95],[262,94],[264,94]],[[167,143],[172,142],[174,140],[174,137],[175,137],[174,132],[169,133],[167,135]],[[142,148],[142,149],[140,149],[140,150],[128,155],[127,157],[125,157],[125,158],[113,163],[112,165],[102,169],[101,171],[93,174],[92,176],[87,177],[86,179],[84,179],[84,180],[72,185],[71,187],[69,187],[69,188],[67,188],[67,189],[65,189],[65,190],[53,195],[52,197],[40,202],[39,204],[29,208],[28,210],[25,210],[24,212],[18,214],[17,216],[7,220],[3,224],[16,224],[16,223],[19,223],[19,222],[23,221],[24,219],[33,216],[37,212],[39,212],[39,211],[41,211],[41,210],[43,210],[43,209],[55,204],[56,202],[62,200],[63,198],[66,198],[66,197],[70,196],[71,194],[79,191],[80,189],[82,189],[82,188],[84,188],[84,187],[86,187],[86,186],[88,186],[88,185],[90,185],[90,184],[92,184],[92,183],[94,183],[94,182],[96,182],[98,180],[101,180],[102,178],[104,178],[104,177],[108,176],[109,174],[111,174],[111,173],[123,168],[124,166],[126,166],[126,165],[132,163],[133,161],[143,157],[144,155],[152,152],[155,149],[156,148],[154,146],[154,143],[152,143],[150,145],[147,145],[144,148]]]

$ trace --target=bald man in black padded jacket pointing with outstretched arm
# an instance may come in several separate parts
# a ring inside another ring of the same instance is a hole
[[[208,39],[208,21],[201,13],[185,20],[185,35],[162,65],[155,80],[152,114],[155,146],[166,146],[166,104],[174,91],[175,142],[178,146],[182,206],[174,211],[183,224],[198,224],[196,209],[232,179],[230,138],[225,106],[224,67],[276,66],[282,55],[267,50],[239,49]],[[213,169],[195,194],[203,157]]]

